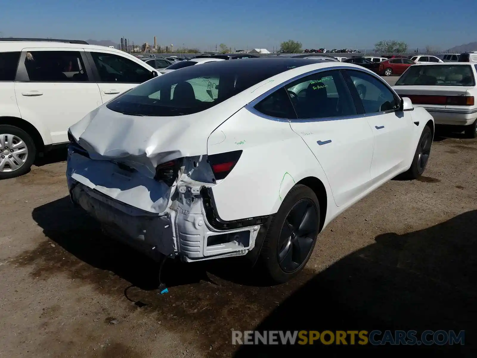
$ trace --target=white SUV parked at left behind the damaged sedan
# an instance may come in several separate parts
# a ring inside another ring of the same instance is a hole
[[[135,56],[84,41],[0,39],[0,179],[68,143],[68,127],[160,75]]]

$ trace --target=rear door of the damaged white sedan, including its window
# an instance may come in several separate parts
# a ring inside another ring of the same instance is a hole
[[[298,119],[291,129],[321,164],[337,206],[370,187],[373,131],[357,116],[339,70],[319,72],[287,85]]]

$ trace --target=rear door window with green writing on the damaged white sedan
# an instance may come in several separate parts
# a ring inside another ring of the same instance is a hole
[[[339,71],[311,74],[285,89],[298,118],[356,115],[353,99]]]

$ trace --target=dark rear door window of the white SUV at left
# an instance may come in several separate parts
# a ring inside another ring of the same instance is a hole
[[[25,68],[30,81],[88,81],[88,74],[78,51],[29,51],[25,56]]]

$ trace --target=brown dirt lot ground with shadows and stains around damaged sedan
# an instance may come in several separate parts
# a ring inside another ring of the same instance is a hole
[[[255,327],[466,330],[452,356],[474,356],[477,141],[435,139],[425,176],[334,220],[297,279],[263,287],[233,261],[168,262],[165,295],[154,263],[73,208],[53,153],[0,182],[0,358],[270,356],[231,345],[231,329]]]

